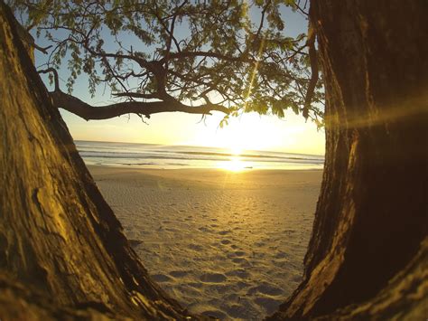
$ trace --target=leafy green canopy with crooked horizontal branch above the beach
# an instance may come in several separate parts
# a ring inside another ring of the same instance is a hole
[[[293,109],[321,126],[314,38],[285,35],[284,4],[304,14],[300,1],[279,0],[9,1],[23,27],[49,42],[36,49],[48,54],[39,72],[50,73],[54,105],[82,118],[217,110],[223,125],[241,112]],[[65,65],[67,93],[57,72]],[[105,85],[116,102],[73,97],[81,74],[91,95]]]

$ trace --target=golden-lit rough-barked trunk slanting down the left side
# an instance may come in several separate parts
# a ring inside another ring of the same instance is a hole
[[[0,318],[185,318],[129,247],[3,2],[0,99]]]

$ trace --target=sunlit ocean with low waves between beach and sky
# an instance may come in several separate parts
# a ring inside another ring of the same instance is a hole
[[[322,169],[324,156],[248,150],[240,155],[230,150],[203,146],[112,143],[76,140],[79,155],[87,165],[141,168]]]

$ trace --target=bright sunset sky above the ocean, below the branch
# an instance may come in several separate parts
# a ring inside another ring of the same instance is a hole
[[[282,16],[285,33],[296,35],[306,32],[307,22],[301,14],[287,10],[282,12]],[[45,56],[36,52],[36,65],[45,60]],[[46,77],[43,78],[46,80]],[[60,86],[63,90],[64,80],[67,78],[66,69],[60,71]],[[96,96],[91,98],[88,94],[88,82],[84,78],[78,78],[73,95],[94,106],[113,102],[109,93],[103,93],[103,90],[98,90]],[[323,155],[325,148],[324,131],[318,130],[310,120],[306,122],[293,111],[287,111],[281,119],[247,113],[231,118],[228,126],[222,128],[219,127],[219,122],[223,114],[219,112],[214,112],[204,120],[201,120],[200,115],[178,112],[154,114],[146,119],[148,124],[144,124],[136,115],[86,121],[63,109],[60,109],[60,113],[71,136],[76,140],[215,146],[235,153],[244,150],[273,150]]]

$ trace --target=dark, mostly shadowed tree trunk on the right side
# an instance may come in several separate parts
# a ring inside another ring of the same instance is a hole
[[[274,318],[428,315],[427,9],[312,1],[326,163],[305,278]]]

